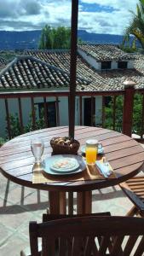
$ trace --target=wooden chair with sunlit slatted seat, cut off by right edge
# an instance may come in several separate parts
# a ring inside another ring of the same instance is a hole
[[[127,195],[134,204],[127,216],[141,216],[144,217],[144,175],[141,172],[139,175],[130,178],[124,183],[120,183],[125,195]]]

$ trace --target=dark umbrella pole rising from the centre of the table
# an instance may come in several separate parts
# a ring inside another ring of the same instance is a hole
[[[69,137],[72,137],[72,138],[74,138],[74,126],[75,126],[77,35],[78,35],[78,0],[72,0],[70,92],[69,92]]]

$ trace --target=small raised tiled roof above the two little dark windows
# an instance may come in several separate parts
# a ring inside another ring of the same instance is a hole
[[[125,53],[115,44],[80,44],[78,49],[91,55],[96,61],[126,61],[135,59],[134,54]]]

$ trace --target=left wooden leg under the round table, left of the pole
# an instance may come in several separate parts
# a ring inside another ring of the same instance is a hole
[[[49,214],[66,214],[66,192],[49,191]]]

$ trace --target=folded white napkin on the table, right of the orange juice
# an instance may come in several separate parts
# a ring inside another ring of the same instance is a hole
[[[101,160],[96,160],[95,162],[98,171],[104,177],[109,177],[112,174],[112,166],[108,162],[103,162]]]

